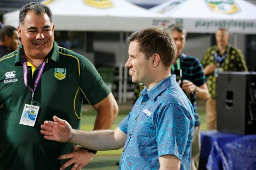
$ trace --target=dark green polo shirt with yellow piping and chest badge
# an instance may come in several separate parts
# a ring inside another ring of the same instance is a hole
[[[32,94],[24,83],[21,50],[22,46],[0,60],[0,169],[59,169],[67,160],[58,157],[72,152],[73,144],[45,140],[41,124],[57,115],[78,129],[82,98],[94,105],[110,90],[89,60],[54,42],[35,91],[34,105],[40,107],[35,126],[21,125],[23,108],[31,103]],[[28,66],[30,87],[38,70],[39,66],[32,77]]]

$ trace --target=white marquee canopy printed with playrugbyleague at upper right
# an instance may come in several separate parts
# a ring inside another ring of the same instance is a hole
[[[170,0],[150,8],[182,24],[188,32],[256,33],[256,6],[243,0]]]

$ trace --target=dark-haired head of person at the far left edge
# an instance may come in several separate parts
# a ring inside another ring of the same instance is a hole
[[[20,36],[17,29],[11,25],[4,25],[0,29],[0,58],[17,50],[20,45]]]

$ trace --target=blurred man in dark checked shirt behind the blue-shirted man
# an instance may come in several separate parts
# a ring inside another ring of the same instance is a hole
[[[197,58],[182,53],[186,42],[186,30],[183,29],[181,25],[177,24],[172,24],[168,28],[172,31],[172,36],[177,48],[177,54],[174,64],[171,67],[171,73],[176,74],[178,82],[180,80],[180,87],[188,96],[196,115],[191,154],[191,169],[196,170],[198,169],[201,148],[200,122],[196,108],[196,98],[207,100],[209,98],[209,91],[206,86],[206,79],[201,63]]]

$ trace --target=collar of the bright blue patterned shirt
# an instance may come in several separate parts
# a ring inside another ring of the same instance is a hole
[[[163,92],[165,89],[169,88],[172,84],[176,83],[176,76],[171,75],[170,77],[167,77],[163,79],[161,82],[156,84],[152,89],[148,91],[147,88],[143,89],[141,91],[142,96],[148,96],[148,99],[154,100],[161,92]]]

